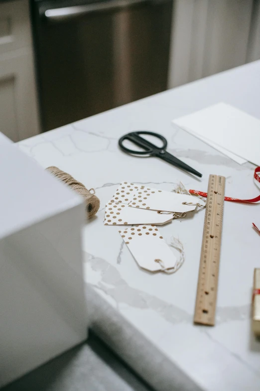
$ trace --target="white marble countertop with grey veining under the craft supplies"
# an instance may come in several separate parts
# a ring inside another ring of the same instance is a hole
[[[204,212],[159,228],[166,241],[180,238],[186,260],[176,274],[150,275],[138,268],[120,227],[104,226],[105,203],[122,180],[165,190],[181,181],[206,191],[211,173],[226,177],[228,196],[258,195],[252,164],[238,165],[171,120],[219,101],[260,118],[259,91],[257,61],[19,143],[43,167],[55,165],[95,188],[101,208],[85,228],[85,271],[104,318],[92,309],[93,326],[157,390],[260,390],[260,342],[250,321],[253,273],[260,267],[260,237],[252,222],[260,207],[225,203],[216,326],[207,328],[192,321]],[[168,151],[203,178],[121,152],[119,137],[133,130],[163,134]]]

